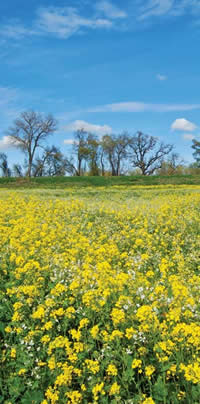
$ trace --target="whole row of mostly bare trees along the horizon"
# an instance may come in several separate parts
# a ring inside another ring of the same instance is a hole
[[[6,135],[9,142],[25,156],[23,167],[9,167],[7,155],[0,153],[3,176],[82,176],[127,175],[200,172],[200,142],[192,141],[195,162],[187,167],[174,152],[174,146],[160,142],[158,138],[138,131],[134,135],[122,132],[105,134],[99,139],[83,128],[74,134],[71,153],[64,154],[55,146],[46,144],[47,138],[57,129],[52,115],[44,116],[35,111],[23,112]]]

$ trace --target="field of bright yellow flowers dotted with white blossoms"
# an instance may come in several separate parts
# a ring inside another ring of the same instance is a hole
[[[0,403],[200,403],[200,187],[0,191]]]

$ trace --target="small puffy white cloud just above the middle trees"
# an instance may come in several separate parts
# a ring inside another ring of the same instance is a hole
[[[93,133],[98,136],[103,136],[105,134],[110,134],[112,133],[112,128],[108,125],[95,125],[89,122],[85,121],[74,121],[71,122],[69,125],[65,126],[63,128],[67,132],[72,132],[72,131],[77,131],[80,129],[84,129],[85,131],[89,133]]]

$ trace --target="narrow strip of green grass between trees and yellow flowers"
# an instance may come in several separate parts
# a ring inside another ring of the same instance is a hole
[[[120,185],[200,185],[200,175],[121,176],[121,177],[38,177],[0,178],[1,188],[107,187]]]

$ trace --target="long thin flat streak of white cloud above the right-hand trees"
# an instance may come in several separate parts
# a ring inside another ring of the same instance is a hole
[[[200,109],[200,104],[148,104],[144,102],[119,102],[90,108],[87,112],[172,112]]]

